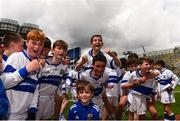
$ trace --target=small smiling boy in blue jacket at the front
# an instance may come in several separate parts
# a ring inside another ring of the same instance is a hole
[[[93,86],[88,81],[79,81],[77,88],[78,101],[71,106],[68,120],[99,120],[99,108],[92,102]]]

